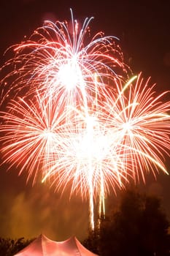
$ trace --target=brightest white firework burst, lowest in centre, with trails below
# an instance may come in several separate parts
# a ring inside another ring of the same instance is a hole
[[[52,177],[51,184],[55,184],[56,189],[64,190],[71,183],[71,195],[79,192],[82,197],[89,197],[91,227],[94,225],[93,198],[99,196],[104,204],[109,184],[112,189],[116,185],[123,187],[128,170],[123,166],[125,154],[118,152],[117,139],[113,143],[111,132],[105,129],[98,115],[93,112],[93,116],[86,116],[83,110],[73,113],[69,132],[66,127],[62,144],[55,152],[55,162],[50,162],[51,167],[47,167],[49,171],[43,179]]]

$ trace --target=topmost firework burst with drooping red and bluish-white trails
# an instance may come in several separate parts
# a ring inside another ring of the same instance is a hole
[[[92,101],[96,91],[104,93],[113,78],[127,78],[128,67],[123,64],[115,37],[104,37],[100,32],[88,42],[90,20],[85,19],[80,30],[72,17],[72,31],[67,23],[45,21],[29,40],[15,45],[15,58],[4,64],[4,68],[15,69],[1,81],[6,84],[1,102],[7,95],[34,95],[39,89],[42,94],[52,94],[61,108],[82,105],[85,98]]]

